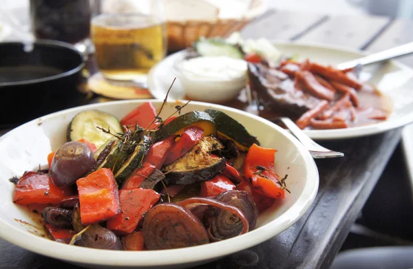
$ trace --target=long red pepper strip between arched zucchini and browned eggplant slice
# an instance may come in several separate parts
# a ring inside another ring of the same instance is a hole
[[[180,140],[175,143],[175,145],[167,155],[165,164],[175,162],[185,153],[190,151],[193,147],[195,147],[195,144],[197,144],[198,141],[201,140],[203,134],[204,130],[200,129],[199,127],[188,127],[187,129],[185,129],[180,136]]]

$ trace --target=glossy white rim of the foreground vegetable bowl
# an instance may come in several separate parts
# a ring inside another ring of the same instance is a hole
[[[108,103],[100,103],[93,105],[85,105],[82,107],[75,107],[72,109],[66,109],[63,111],[56,112],[54,114],[49,114],[41,118],[37,118],[30,122],[21,125],[33,125],[39,122],[47,120],[48,118],[53,118],[54,116],[61,116],[70,111],[76,111],[81,109],[95,109],[98,107],[111,106],[113,104],[122,103],[140,103],[140,102],[160,102],[159,100],[120,100]],[[272,122],[248,114],[245,111],[240,111],[238,109],[233,109],[229,107],[224,107],[222,105],[212,105],[209,103],[202,102],[191,102],[194,105],[209,105],[211,107],[216,107],[217,109],[226,109],[233,111],[244,116],[253,118],[260,122],[264,122],[266,125],[270,125],[276,131],[282,133],[288,140],[290,140],[300,155],[302,155],[303,160],[306,164],[307,179],[306,184],[303,189],[303,193],[298,197],[297,201],[293,206],[291,206],[285,213],[274,219],[272,222],[252,230],[244,235],[233,237],[231,239],[226,239],[223,241],[211,243],[213,244],[213,249],[216,251],[211,251],[211,244],[202,246],[193,246],[190,248],[178,248],[173,250],[145,250],[139,251],[119,251],[119,250],[98,250],[94,248],[83,248],[80,246],[69,246],[67,244],[57,243],[51,241],[50,239],[44,239],[36,235],[24,233],[21,229],[15,228],[10,224],[0,221],[0,237],[6,239],[12,244],[25,248],[32,252],[36,252],[40,255],[45,255],[47,257],[52,257],[55,259],[61,259],[74,263],[87,263],[89,265],[104,265],[104,266],[171,266],[185,263],[193,263],[196,261],[208,260],[208,259],[218,259],[219,257],[224,257],[230,255],[234,252],[244,250],[251,246],[262,243],[273,236],[282,233],[282,231],[289,228],[297,220],[306,213],[311,204],[315,200],[319,187],[319,173],[317,166],[311,157],[310,153],[304,148],[304,146],[290,133],[278,127]],[[20,127],[17,127],[20,128]],[[13,136],[14,130],[6,133],[0,138],[0,143],[5,140],[8,136]]]

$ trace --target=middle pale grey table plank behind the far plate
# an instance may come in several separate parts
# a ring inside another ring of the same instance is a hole
[[[301,36],[299,41],[363,48],[374,39],[390,19],[385,17],[330,17],[320,27]]]

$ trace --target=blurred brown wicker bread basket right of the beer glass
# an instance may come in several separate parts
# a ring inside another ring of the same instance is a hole
[[[240,31],[247,23],[263,14],[265,10],[266,5],[263,0],[253,0],[248,12],[241,18],[167,21],[168,51],[183,50],[198,40],[200,36],[229,36],[233,32]]]

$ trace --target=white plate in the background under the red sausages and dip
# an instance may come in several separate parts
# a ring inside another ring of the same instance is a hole
[[[298,54],[300,60],[310,58],[312,61],[323,64],[337,65],[350,61],[365,54],[330,45],[314,45],[307,43],[283,43],[275,42],[275,46],[286,54]],[[165,98],[167,89],[176,76],[173,63],[184,52],[178,52],[165,58],[149,72],[149,92],[160,100]],[[374,76],[371,72],[374,71]],[[369,79],[370,82],[392,98],[394,110],[388,120],[374,125],[353,127],[347,129],[330,130],[307,130],[310,138],[320,140],[334,140],[341,138],[354,138],[381,133],[413,122],[413,70],[406,65],[390,61],[377,69],[376,67],[365,67],[361,78]],[[169,98],[182,99],[184,91],[177,78]]]

